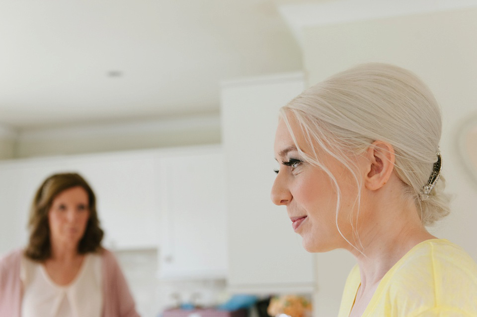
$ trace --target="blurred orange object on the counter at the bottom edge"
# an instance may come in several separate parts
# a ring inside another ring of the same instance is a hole
[[[270,316],[285,314],[291,317],[311,317],[312,304],[303,296],[276,296],[270,300],[267,313]]]

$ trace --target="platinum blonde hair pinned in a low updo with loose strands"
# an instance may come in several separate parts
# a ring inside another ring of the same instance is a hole
[[[280,114],[300,154],[323,169],[334,184],[338,193],[336,226],[340,190],[334,176],[318,160],[315,144],[351,172],[359,189],[361,180],[353,158],[375,140],[391,144],[402,194],[414,201],[422,223],[430,225],[449,214],[450,199],[443,193],[442,175],[429,198],[421,200],[420,192],[437,161],[442,120],[433,94],[412,72],[384,63],[358,65],[305,90],[282,107]],[[298,122],[312,153],[304,153],[297,143],[290,115]],[[359,195],[356,203],[359,212]]]

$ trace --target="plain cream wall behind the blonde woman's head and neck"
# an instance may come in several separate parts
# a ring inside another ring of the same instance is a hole
[[[477,115],[477,9],[399,16],[309,27],[305,68],[312,85],[364,62],[394,63],[418,74],[443,112],[443,174],[456,194],[452,213],[431,232],[464,247],[477,260],[477,187],[457,151],[460,125]],[[336,316],[352,256],[318,254],[317,316]]]

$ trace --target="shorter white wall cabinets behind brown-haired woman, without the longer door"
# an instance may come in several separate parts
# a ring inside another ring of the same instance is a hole
[[[94,190],[105,247],[157,248],[157,170],[157,159],[141,152],[0,163],[0,254],[25,246],[33,196],[48,176],[61,172],[78,172]]]

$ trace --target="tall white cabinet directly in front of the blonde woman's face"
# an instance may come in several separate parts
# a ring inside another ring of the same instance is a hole
[[[229,82],[222,87],[229,238],[228,282],[234,292],[310,292],[314,259],[273,205],[273,143],[278,109],[304,89],[302,74]]]

